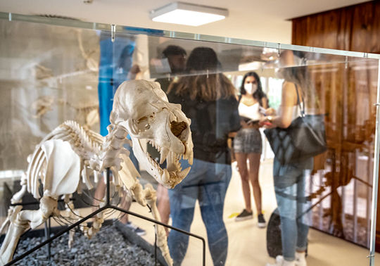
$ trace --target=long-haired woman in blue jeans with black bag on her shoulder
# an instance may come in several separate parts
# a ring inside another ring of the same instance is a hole
[[[288,128],[293,120],[302,115],[317,113],[318,101],[310,82],[308,67],[302,65],[303,55],[284,51],[280,57],[282,85],[281,106],[278,113],[267,109],[262,122],[267,127]],[[305,195],[305,182],[313,167],[313,158],[300,159],[295,163],[280,163],[274,158],[273,177],[277,208],[281,219],[282,256],[277,256],[272,266],[306,266],[305,251],[308,242],[310,202]],[[270,266],[269,264],[267,264]]]

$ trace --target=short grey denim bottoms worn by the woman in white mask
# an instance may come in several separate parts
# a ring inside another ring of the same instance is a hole
[[[258,129],[242,128],[234,138],[235,153],[258,153],[261,154],[262,139]]]

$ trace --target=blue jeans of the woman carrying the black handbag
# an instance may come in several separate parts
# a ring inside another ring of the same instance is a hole
[[[313,158],[286,165],[274,159],[274,191],[281,219],[285,260],[295,260],[296,251],[305,251],[308,245],[310,219],[307,211],[310,201],[305,194],[305,180],[312,166]]]

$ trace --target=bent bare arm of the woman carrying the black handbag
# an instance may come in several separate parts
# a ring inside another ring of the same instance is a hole
[[[265,123],[269,128],[282,127],[287,128],[291,125],[293,116],[293,107],[297,104],[296,86],[291,82],[284,82],[281,95],[281,115],[270,115],[272,110],[268,110],[267,116],[260,122]],[[271,109],[271,108],[270,108]]]

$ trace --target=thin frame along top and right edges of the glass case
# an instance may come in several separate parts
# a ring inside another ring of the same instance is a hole
[[[60,18],[45,18],[40,16],[20,15],[13,13],[0,13],[0,20],[9,22],[23,22],[23,23],[37,23],[42,25],[72,27],[85,30],[100,30],[102,32],[110,32],[111,37],[115,39],[119,34],[133,34],[133,35],[146,35],[148,37],[162,37],[167,39],[180,40],[181,42],[194,41],[194,42],[209,42],[214,44],[233,44],[241,47],[254,47],[260,49],[271,49],[272,53],[281,53],[284,50],[302,51],[308,53],[311,58],[316,54],[323,54],[329,58],[328,62],[318,61],[317,56],[315,60],[310,60],[307,65],[319,65],[328,63],[341,63],[349,65],[359,61],[377,61],[378,71],[380,70],[380,55],[372,53],[360,53],[351,51],[338,51],[333,49],[322,49],[307,46],[296,46],[291,44],[279,44],[272,42],[258,42],[244,39],[234,39],[229,37],[215,37],[203,34],[190,34],[185,32],[172,32],[167,30],[152,30],[139,27],[125,27],[121,25],[108,25],[103,23],[88,23],[78,20],[64,20]],[[0,44],[1,45],[1,44]],[[258,68],[253,67],[251,70],[265,70],[275,68],[273,65],[262,64]],[[232,70],[221,72],[232,72]],[[167,77],[167,75],[157,75],[156,77]],[[369,265],[374,265],[375,244],[376,244],[376,210],[377,210],[377,196],[378,196],[378,179],[379,179],[379,159],[380,159],[380,75],[378,72],[377,77],[377,94],[376,94],[376,132],[374,134],[374,167],[372,176],[372,205],[371,205],[371,224],[370,224],[370,240],[369,240]]]

